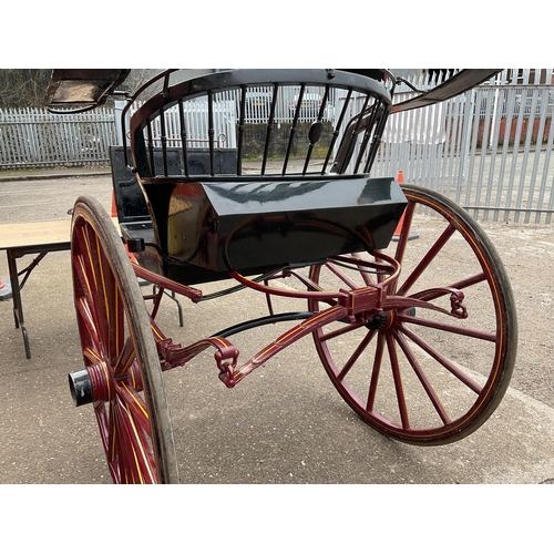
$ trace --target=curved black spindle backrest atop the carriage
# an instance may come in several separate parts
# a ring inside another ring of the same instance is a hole
[[[382,81],[338,70],[235,70],[172,86],[166,74],[164,83],[131,119],[132,168],[143,179],[369,173],[392,106],[391,90]],[[193,124],[204,127],[202,136],[197,130],[195,136]],[[218,163],[222,136],[235,154],[225,171]],[[253,142],[261,143],[259,150],[249,150]],[[177,144],[183,165],[175,172],[166,152]],[[206,165],[199,173],[189,164],[191,144],[205,146]],[[156,148],[161,164],[154,160]]]

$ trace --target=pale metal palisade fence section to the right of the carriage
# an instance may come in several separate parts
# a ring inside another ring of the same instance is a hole
[[[554,84],[535,84],[540,71],[506,70],[448,102],[392,115],[373,175],[402,170],[406,182],[440,191],[483,220],[550,224]],[[553,83],[553,70],[541,80]]]

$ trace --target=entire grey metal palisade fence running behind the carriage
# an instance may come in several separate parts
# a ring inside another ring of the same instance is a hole
[[[408,71],[408,70],[404,70]],[[417,88],[437,84],[435,75],[404,73]],[[413,94],[408,88],[396,102]],[[291,121],[295,91],[278,93],[278,123]],[[316,90],[309,91],[318,104]],[[311,98],[311,96],[310,96]],[[269,110],[271,88],[248,92],[248,123]],[[337,106],[340,99],[332,99]],[[198,103],[187,113],[187,136],[196,136]],[[235,144],[237,99],[225,93],[217,103],[219,146]],[[394,176],[434,188],[481,219],[521,223],[552,222],[554,214],[554,70],[504,70],[491,82],[448,102],[401,112],[390,117],[373,164],[372,176]],[[171,115],[171,114],[170,114]],[[170,116],[168,115],[168,116]],[[312,121],[311,113],[306,115]],[[50,114],[44,110],[0,110],[0,170],[51,165],[109,163],[109,146],[119,144],[117,115],[111,109],[82,114]],[[334,120],[332,110],[326,120]],[[168,120],[174,138],[181,130]],[[205,126],[205,125],[204,125]]]

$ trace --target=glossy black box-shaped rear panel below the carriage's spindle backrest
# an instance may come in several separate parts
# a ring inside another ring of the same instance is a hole
[[[144,186],[148,197],[155,191],[155,197],[166,198],[156,238],[173,260],[168,273],[183,276],[198,273],[188,266],[249,274],[384,248],[406,206],[391,178]],[[161,187],[171,193],[160,194]]]

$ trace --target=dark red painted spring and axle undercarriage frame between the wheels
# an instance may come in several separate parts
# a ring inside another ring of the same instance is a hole
[[[366,287],[353,288],[353,290],[340,289],[324,291],[318,285],[299,275],[294,269],[285,270],[284,274],[277,277],[274,276],[273,278],[283,277],[285,274],[286,276],[294,276],[306,285],[308,290],[296,291],[291,289],[270,287],[267,285],[267,280],[266,284],[263,285],[261,283],[244,277],[237,271],[233,271],[230,276],[240,285],[244,285],[252,290],[264,293],[268,297],[268,306],[271,314],[271,296],[308,300],[312,299],[329,304],[329,308],[307,317],[300,324],[280,335],[269,345],[266,345],[253,358],[242,366],[238,366],[239,351],[228,339],[224,337],[213,336],[185,347],[174,343],[172,339],[167,338],[154,321],[162,298],[162,294],[160,294],[155,299],[151,318],[154,338],[156,340],[158,353],[162,358],[162,370],[165,371],[178,366],[184,366],[198,353],[209,347],[213,347],[216,350],[214,357],[219,370],[219,379],[226,384],[226,387],[233,388],[246,376],[252,373],[257,367],[268,361],[284,348],[287,348],[306,335],[310,335],[314,330],[334,321],[347,319],[353,325],[362,326],[371,322],[376,316],[380,316],[384,311],[410,308],[413,306],[444,311],[441,308],[425,301],[423,298],[419,299],[411,297],[408,299],[406,297],[394,295],[396,284],[400,275],[400,264],[381,252],[376,250],[372,253],[372,256],[378,261],[367,261],[360,258],[356,265],[360,268],[365,267],[373,270],[380,270],[382,275],[387,276],[380,277],[378,283],[371,283],[369,278],[367,278]],[[348,261],[351,264],[351,259],[346,256],[334,256],[331,259],[337,261]],[[153,274],[136,264],[133,264],[133,269],[135,270],[137,277],[150,280],[160,287],[161,291],[163,291],[163,289],[168,289],[182,294],[193,301],[198,301],[203,297],[202,290],[181,285],[165,277]],[[445,294],[451,295],[452,310],[450,315],[455,318],[464,318],[465,309],[462,304],[462,291],[454,289],[437,289],[428,299]]]

